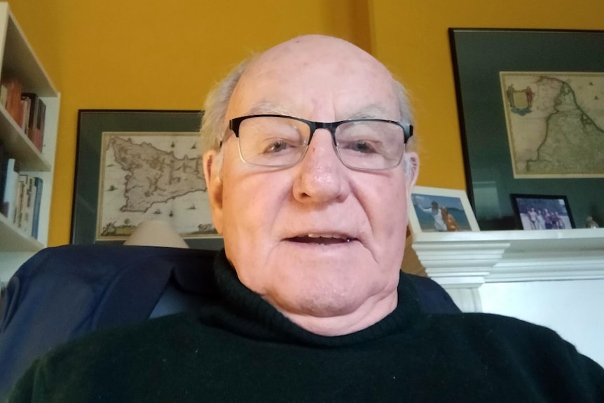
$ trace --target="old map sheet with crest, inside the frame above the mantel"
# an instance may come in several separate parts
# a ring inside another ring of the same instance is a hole
[[[500,72],[516,178],[604,177],[604,73]]]

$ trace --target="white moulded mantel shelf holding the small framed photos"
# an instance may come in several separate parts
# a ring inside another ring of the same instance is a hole
[[[449,287],[604,278],[604,228],[417,233],[413,250]]]

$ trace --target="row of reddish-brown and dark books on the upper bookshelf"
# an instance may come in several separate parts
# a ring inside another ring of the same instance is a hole
[[[42,151],[46,104],[35,93],[22,92],[18,78],[6,76],[0,81],[0,105],[6,109],[15,123]]]

